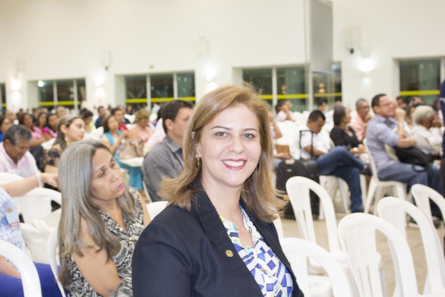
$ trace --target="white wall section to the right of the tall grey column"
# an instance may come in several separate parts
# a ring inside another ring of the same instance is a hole
[[[334,60],[342,62],[343,100],[399,95],[398,58],[445,56],[443,0],[333,0]],[[350,54],[344,30],[360,28],[365,56]],[[369,72],[359,68],[369,63]]]

